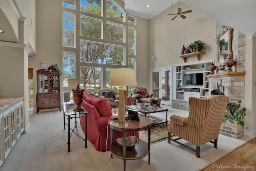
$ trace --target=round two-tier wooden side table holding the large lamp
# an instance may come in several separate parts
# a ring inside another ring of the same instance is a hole
[[[147,117],[140,117],[140,121],[125,121],[120,123],[118,121],[108,120],[110,124],[110,152],[111,158],[113,155],[124,161],[124,171],[126,168],[126,160],[135,160],[146,157],[148,155],[148,164],[150,164],[150,131],[151,131],[151,120]],[[113,129],[122,131],[123,133],[123,147],[118,143],[113,143]],[[126,132],[142,131],[148,129],[148,143],[138,139],[138,142],[134,147],[126,148]]]

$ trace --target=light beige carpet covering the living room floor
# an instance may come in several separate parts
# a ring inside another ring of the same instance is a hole
[[[168,118],[173,113],[181,114],[182,112],[169,109]],[[166,117],[164,113],[157,114],[158,117],[162,115],[163,118]],[[71,122],[74,123],[74,119]],[[88,148],[85,149],[84,141],[75,134],[72,134],[71,152],[68,153],[68,130],[63,129],[62,112],[34,113],[30,117],[30,123],[30,128],[26,134],[20,136],[0,167],[0,171],[123,170],[122,159],[113,157],[109,160],[110,152],[96,151],[90,141],[88,141]],[[80,127],[75,130],[82,133]],[[203,145],[201,158],[197,158],[194,152],[173,142],[168,144],[167,140],[161,141],[151,145],[150,165],[148,165],[148,156],[128,160],[126,171],[199,171],[248,140],[248,137],[232,139],[220,135],[218,149],[215,149],[212,143]]]

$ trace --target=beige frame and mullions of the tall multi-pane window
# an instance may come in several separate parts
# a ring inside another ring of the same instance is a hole
[[[65,1],[65,0],[63,0]],[[80,0],[74,0],[74,6],[72,8],[68,8],[68,7],[64,7],[64,5],[62,6],[62,13],[63,12],[68,12],[71,14],[75,14],[75,47],[64,47],[63,46],[63,51],[72,51],[76,54],[76,63],[75,63],[75,79],[82,79],[81,76],[81,67],[91,67],[91,68],[102,68],[101,69],[101,85],[99,87],[101,88],[106,88],[108,85],[105,84],[107,78],[109,77],[107,74],[109,74],[109,72],[107,72],[107,70],[109,68],[129,68],[129,60],[132,59],[134,60],[134,72],[136,74],[136,59],[138,58],[136,56],[136,29],[137,29],[137,20],[136,20],[136,16],[133,16],[131,14],[127,14],[126,11],[124,10],[124,4],[118,4],[118,2],[122,3],[121,1],[116,2],[115,0],[108,0],[108,2],[110,3],[114,3],[114,5],[116,7],[118,7],[119,9],[119,13],[120,11],[122,11],[122,13],[120,14],[120,17],[122,18],[121,20],[116,20],[115,18],[109,18],[106,16],[106,11],[107,11],[107,7],[106,7],[106,0],[101,0],[101,9],[100,9],[100,15],[95,15],[92,13],[87,13],[84,11],[80,10]],[[117,12],[117,13],[118,13]],[[90,36],[84,36],[84,35],[80,35],[80,18],[81,17],[85,17],[85,18],[90,18],[93,20],[97,20],[97,21],[102,21],[101,22],[101,36],[100,38],[95,38],[95,37],[90,37]],[[118,41],[114,41],[114,40],[108,40],[106,37],[106,24],[109,23],[113,23],[116,26],[124,26],[124,40],[122,42],[118,42]],[[130,54],[128,53],[128,29],[134,29],[134,54]],[[123,55],[123,64],[122,65],[117,65],[117,64],[104,64],[104,63],[92,63],[92,62],[80,62],[80,41],[89,41],[89,42],[95,42],[98,43],[100,42],[101,44],[108,44],[108,45],[113,45],[113,46],[117,46],[117,47],[124,47],[124,55]],[[64,79],[63,79],[64,80]],[[81,80],[81,84],[82,84],[82,80]]]

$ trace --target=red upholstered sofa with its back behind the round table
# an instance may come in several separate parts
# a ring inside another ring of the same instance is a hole
[[[82,102],[82,107],[88,110],[87,117],[87,139],[95,146],[98,151],[106,151],[106,138],[107,138],[107,126],[108,126],[108,142],[107,148],[110,147],[110,127],[108,125],[108,120],[111,118],[111,108],[108,101],[104,98],[95,97],[84,91],[84,100]],[[85,119],[80,118],[80,124],[82,130],[85,132],[84,128]],[[133,135],[132,132],[127,133],[127,136]],[[138,132],[135,133],[138,137]],[[113,140],[116,141],[117,138],[122,137],[121,131],[113,131]]]

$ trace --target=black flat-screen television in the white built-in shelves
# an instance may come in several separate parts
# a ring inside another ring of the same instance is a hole
[[[184,74],[183,84],[184,85],[203,85],[203,73]]]

